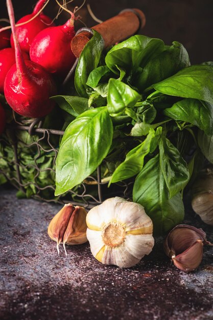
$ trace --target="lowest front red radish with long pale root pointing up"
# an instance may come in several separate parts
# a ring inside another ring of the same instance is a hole
[[[49,97],[56,94],[56,86],[51,76],[40,65],[23,60],[16,38],[11,0],[7,0],[7,7],[15,40],[16,64],[12,65],[5,79],[5,98],[19,115],[40,118],[52,110],[54,103]]]

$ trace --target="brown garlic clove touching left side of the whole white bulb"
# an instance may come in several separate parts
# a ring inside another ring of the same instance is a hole
[[[86,215],[87,212],[83,207],[79,207],[78,205],[75,207],[75,210],[69,219],[69,222],[63,235],[63,247],[65,254],[65,243],[68,245],[74,245],[87,242]]]

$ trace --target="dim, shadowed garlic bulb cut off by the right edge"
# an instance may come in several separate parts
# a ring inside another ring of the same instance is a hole
[[[213,166],[200,171],[192,188],[192,208],[203,222],[213,225]]]

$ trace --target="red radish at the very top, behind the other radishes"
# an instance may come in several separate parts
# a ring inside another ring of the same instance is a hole
[[[42,8],[46,0],[39,0],[33,10],[33,13],[22,17],[17,21],[17,24],[28,21],[33,18]],[[32,21],[28,22],[26,25],[16,27],[17,39],[21,50],[29,52],[30,45],[35,38],[35,36],[43,29],[54,26],[52,24],[52,19],[44,15],[42,12],[35,17]],[[11,47],[14,48],[13,36],[10,38]]]

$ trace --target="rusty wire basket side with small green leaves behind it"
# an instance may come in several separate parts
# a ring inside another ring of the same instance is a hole
[[[0,138],[1,183],[9,181],[18,189],[18,197],[72,202],[88,209],[115,195],[131,199],[133,181],[121,181],[108,188],[102,166],[73,190],[55,197],[55,162],[63,133],[62,130],[43,128],[40,119],[23,125],[14,116],[6,134]]]

